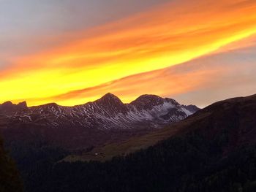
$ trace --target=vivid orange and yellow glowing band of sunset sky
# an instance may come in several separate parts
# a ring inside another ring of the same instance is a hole
[[[72,40],[50,37],[59,46],[8,58],[10,64],[0,69],[0,103],[74,105],[108,92],[126,102],[143,93],[190,93],[211,85],[218,73],[230,74],[233,67],[206,62],[202,68],[198,63],[253,47],[256,44],[246,39],[254,34],[256,1],[172,1],[102,26],[70,31]],[[176,65],[182,66],[182,73],[176,72]]]

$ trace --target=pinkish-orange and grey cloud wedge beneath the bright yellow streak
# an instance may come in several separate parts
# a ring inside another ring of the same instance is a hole
[[[42,101],[83,104],[111,92],[120,96],[122,101],[129,102],[142,94],[153,93],[177,99],[184,104],[205,107],[214,101],[255,93],[255,51],[256,45],[216,53],[167,69],[135,74],[57,96],[29,100],[34,104]]]

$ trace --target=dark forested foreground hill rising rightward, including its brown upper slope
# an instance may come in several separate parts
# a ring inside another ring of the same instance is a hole
[[[117,145],[121,155],[105,162],[63,162],[63,151],[47,150],[50,158],[23,169],[26,190],[256,191],[255,114],[256,96],[219,101]]]

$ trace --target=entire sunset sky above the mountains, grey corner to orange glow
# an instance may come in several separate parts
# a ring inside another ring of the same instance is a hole
[[[255,0],[0,0],[0,103],[256,93]]]

